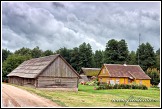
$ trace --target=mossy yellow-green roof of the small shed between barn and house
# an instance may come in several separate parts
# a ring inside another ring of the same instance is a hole
[[[100,70],[100,68],[81,68],[81,73],[87,76],[97,76]]]

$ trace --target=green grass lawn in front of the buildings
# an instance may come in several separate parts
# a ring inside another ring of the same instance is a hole
[[[15,86],[15,85],[14,85]],[[78,92],[47,91],[24,86],[16,86],[42,97],[48,98],[63,107],[160,107],[160,90],[149,88],[94,90],[94,86],[79,85]],[[132,96],[131,98],[129,98]],[[151,102],[112,102],[111,100],[150,99]]]

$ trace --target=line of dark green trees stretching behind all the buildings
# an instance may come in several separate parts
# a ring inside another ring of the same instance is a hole
[[[91,45],[85,42],[79,47],[72,49],[63,47],[56,51],[43,51],[38,46],[33,49],[23,47],[13,53],[7,49],[2,49],[2,79],[6,79],[6,75],[25,60],[54,54],[63,56],[78,73],[81,67],[101,68],[104,63],[139,64],[145,72],[151,68],[157,69],[157,72],[160,70],[160,48],[154,52],[154,48],[147,42],[142,43],[136,51],[129,51],[124,39],[120,41],[111,39],[106,43],[105,50],[96,50],[95,52],[92,51]],[[149,74],[151,75],[151,73]],[[157,75],[159,74],[157,73]]]

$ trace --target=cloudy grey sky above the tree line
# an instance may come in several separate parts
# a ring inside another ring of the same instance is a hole
[[[2,48],[74,48],[83,42],[105,50],[108,40],[125,39],[160,48],[160,2],[3,2]]]

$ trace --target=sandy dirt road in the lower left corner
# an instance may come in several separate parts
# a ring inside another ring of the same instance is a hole
[[[56,103],[26,90],[2,84],[2,107],[60,107]]]

